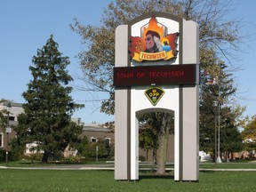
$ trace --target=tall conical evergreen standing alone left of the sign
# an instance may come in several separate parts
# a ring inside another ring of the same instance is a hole
[[[24,113],[20,114],[16,143],[25,145],[36,142],[37,151],[44,151],[42,163],[50,157],[57,157],[72,142],[78,141],[82,127],[71,122],[77,105],[71,98],[72,87],[68,83],[72,77],[66,69],[69,60],[58,50],[53,36],[33,57],[34,66],[29,70],[33,79],[23,92],[26,100]]]

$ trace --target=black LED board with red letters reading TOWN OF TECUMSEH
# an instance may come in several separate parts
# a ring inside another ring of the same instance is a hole
[[[196,64],[114,68],[116,87],[196,84]]]

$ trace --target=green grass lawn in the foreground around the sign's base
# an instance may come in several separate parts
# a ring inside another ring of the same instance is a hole
[[[139,181],[116,181],[113,171],[0,169],[1,192],[43,191],[256,191],[256,172],[200,172],[199,182],[177,182],[173,172],[140,172]]]

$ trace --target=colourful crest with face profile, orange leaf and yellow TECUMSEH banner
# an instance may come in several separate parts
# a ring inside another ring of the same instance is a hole
[[[177,56],[179,33],[167,34],[167,27],[153,15],[148,24],[141,26],[140,36],[130,36],[129,52],[132,60],[171,60]]]

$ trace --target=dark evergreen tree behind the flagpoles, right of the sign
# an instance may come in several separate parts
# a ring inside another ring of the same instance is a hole
[[[215,142],[220,137],[222,152],[237,152],[242,149],[242,138],[238,131],[237,118],[242,115],[244,108],[232,103],[236,93],[234,80],[226,70],[228,66],[213,55],[212,53],[210,58],[205,59],[206,65],[208,64],[207,71],[206,69],[202,71],[200,149],[216,154]],[[212,61],[212,65],[209,65],[210,61]],[[202,62],[202,65],[205,63]]]

